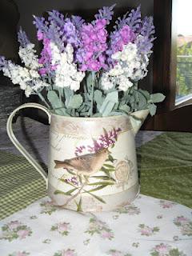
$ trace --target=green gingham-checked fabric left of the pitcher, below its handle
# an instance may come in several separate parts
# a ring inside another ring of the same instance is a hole
[[[0,150],[0,219],[46,195],[46,182],[25,158]]]

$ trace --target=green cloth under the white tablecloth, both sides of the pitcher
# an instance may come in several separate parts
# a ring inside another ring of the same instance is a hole
[[[192,134],[165,133],[138,149],[141,193],[192,207]],[[25,158],[0,151],[0,218],[46,195]]]

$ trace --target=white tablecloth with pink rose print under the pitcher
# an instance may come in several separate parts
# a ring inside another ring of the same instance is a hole
[[[140,195],[102,213],[77,213],[42,198],[1,222],[1,256],[191,256],[192,210]]]

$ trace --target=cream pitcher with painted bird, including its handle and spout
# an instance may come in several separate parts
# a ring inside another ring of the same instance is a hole
[[[18,110],[38,108],[50,123],[48,174],[15,138],[12,120]],[[130,116],[74,118],[53,114],[46,107],[26,103],[10,114],[7,133],[14,146],[46,181],[53,202],[70,210],[114,210],[139,192],[134,136],[148,110]]]

